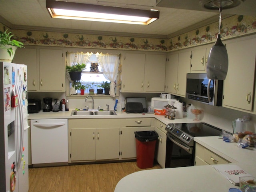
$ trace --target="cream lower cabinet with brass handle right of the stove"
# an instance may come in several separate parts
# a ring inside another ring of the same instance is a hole
[[[226,164],[231,163],[223,157],[215,154],[204,146],[196,143],[196,152],[195,152],[195,166],[199,165],[216,165],[216,164]]]

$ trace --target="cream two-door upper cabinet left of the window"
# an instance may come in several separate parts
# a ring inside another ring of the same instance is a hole
[[[19,48],[13,62],[28,66],[28,91],[65,91],[62,50]]]

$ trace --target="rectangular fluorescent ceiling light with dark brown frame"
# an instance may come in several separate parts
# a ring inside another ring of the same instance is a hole
[[[140,10],[46,0],[52,18],[148,25],[159,18],[157,10]]]

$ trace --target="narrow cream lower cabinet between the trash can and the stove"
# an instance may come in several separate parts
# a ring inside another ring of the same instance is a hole
[[[156,143],[156,160],[162,168],[165,168],[165,157],[166,157],[166,131],[164,128],[166,124],[155,120],[155,132],[158,134],[158,141]]]

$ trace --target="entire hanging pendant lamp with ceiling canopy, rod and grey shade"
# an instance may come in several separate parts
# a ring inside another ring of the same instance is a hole
[[[219,32],[217,40],[212,46],[207,59],[207,78],[215,80],[225,80],[228,73],[228,52],[226,46],[220,39],[221,28],[221,12],[222,9],[233,8],[238,6],[244,0],[200,0],[200,3],[204,8],[211,10],[219,10]]]

